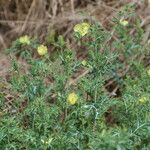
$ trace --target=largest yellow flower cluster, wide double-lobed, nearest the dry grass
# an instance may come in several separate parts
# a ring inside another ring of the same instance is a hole
[[[74,32],[78,32],[82,37],[89,31],[90,24],[83,22],[74,26]]]

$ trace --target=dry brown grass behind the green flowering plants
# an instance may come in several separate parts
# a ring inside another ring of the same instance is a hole
[[[137,3],[137,12],[143,24],[149,24],[149,0],[132,1]],[[95,16],[107,26],[113,14],[129,2],[131,0],[1,0],[0,43],[6,48],[23,34],[44,40],[46,33],[53,28],[68,37],[76,22],[90,19],[87,15]],[[88,13],[80,16],[80,12]]]

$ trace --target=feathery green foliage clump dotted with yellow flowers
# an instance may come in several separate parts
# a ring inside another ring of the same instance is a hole
[[[62,36],[53,43],[55,59],[28,36],[13,43],[7,89],[0,87],[1,150],[150,148],[150,44],[143,43],[132,7],[113,20],[113,32],[97,22],[75,26],[86,60],[78,60]]]

